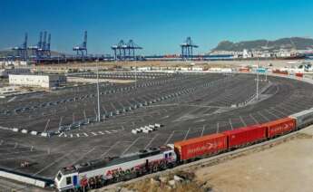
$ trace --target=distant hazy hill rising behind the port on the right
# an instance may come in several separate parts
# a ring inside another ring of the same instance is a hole
[[[313,39],[302,37],[282,38],[275,41],[255,40],[232,43],[223,41],[218,44],[212,51],[234,51],[239,52],[244,49],[248,50],[279,50],[279,49],[313,49]]]

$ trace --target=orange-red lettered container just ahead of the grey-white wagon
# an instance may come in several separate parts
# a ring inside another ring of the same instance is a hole
[[[273,138],[277,135],[282,135],[296,129],[296,120],[291,118],[285,118],[280,120],[273,120],[268,123],[264,123],[261,126],[267,128],[268,138]]]

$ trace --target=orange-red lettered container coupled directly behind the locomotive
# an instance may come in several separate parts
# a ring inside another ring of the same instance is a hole
[[[181,160],[200,158],[227,149],[227,137],[224,134],[211,134],[200,138],[187,139],[174,143],[175,152]]]

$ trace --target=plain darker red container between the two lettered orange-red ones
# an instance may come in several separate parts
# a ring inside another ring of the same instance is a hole
[[[238,148],[262,139],[266,139],[266,128],[254,125],[222,132],[227,136],[228,149]]]

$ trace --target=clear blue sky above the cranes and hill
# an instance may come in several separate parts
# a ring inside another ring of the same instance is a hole
[[[308,0],[1,0],[0,50],[52,34],[52,49],[73,53],[88,31],[89,53],[112,53],[120,39],[142,54],[180,53],[187,36],[208,52],[222,40],[313,36]]]

